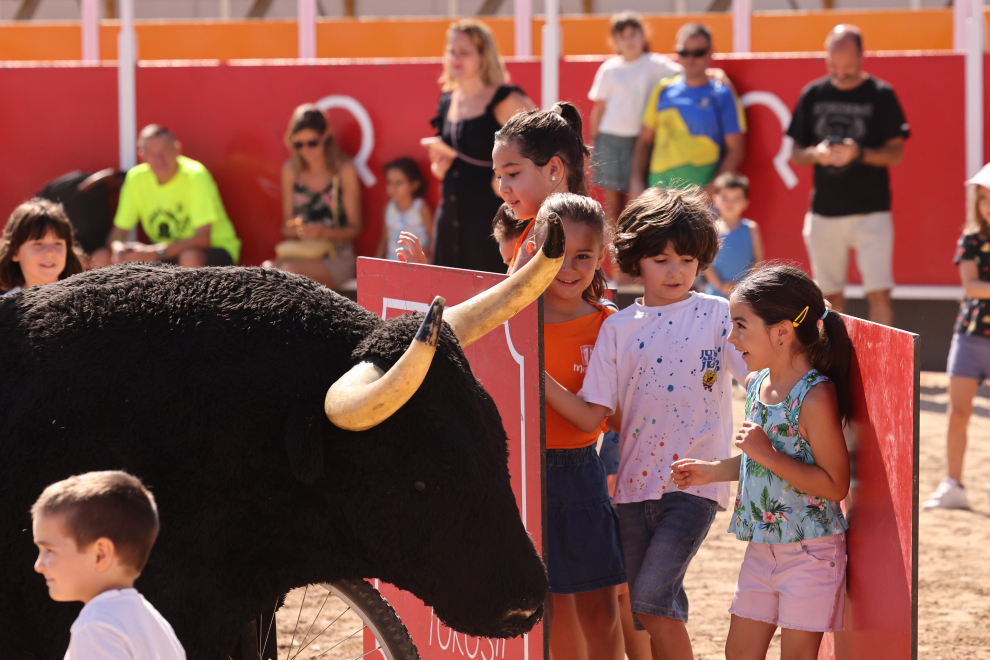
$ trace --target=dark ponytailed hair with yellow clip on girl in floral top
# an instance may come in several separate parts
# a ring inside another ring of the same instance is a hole
[[[818,285],[799,268],[778,264],[744,277],[732,297],[749,305],[768,326],[798,320],[794,336],[807,351],[812,366],[835,385],[839,416],[843,421],[849,419],[852,344],[845,323],[835,312],[829,311],[819,328],[818,319],[826,308]]]

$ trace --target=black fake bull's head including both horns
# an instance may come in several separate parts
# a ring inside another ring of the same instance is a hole
[[[355,442],[364,451],[388,452],[376,466],[382,481],[370,499],[362,489],[362,501],[350,507],[358,516],[394,512],[388,536],[379,529],[359,543],[369,571],[412,591],[448,625],[472,635],[528,631],[543,614],[547,578],[507,487],[498,412],[460,348],[536,300],[560,268],[563,245],[555,220],[538,256],[510,278],[445,317],[443,299],[435,299],[401,355],[397,339],[413,331],[413,320],[383,324],[356,351],[359,363],[326,395],[334,425],[361,432]],[[450,326],[443,333],[442,318]],[[344,463],[355,462],[361,459]],[[383,467],[391,473],[383,475]],[[362,527],[354,525],[358,534]]]

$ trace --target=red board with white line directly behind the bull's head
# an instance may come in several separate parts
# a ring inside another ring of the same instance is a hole
[[[434,296],[443,296],[447,307],[452,307],[505,279],[505,275],[493,273],[366,258],[358,259],[357,272],[358,303],[386,319],[425,312]],[[512,492],[523,524],[537,552],[543,554],[541,304],[533,303],[500,329],[468,346],[464,353],[502,416],[509,437]],[[545,657],[542,623],[529,634],[513,639],[468,637],[443,625],[433,610],[412,594],[389,584],[375,586],[406,624],[424,660],[542,660]],[[365,652],[374,648],[374,638],[366,634]]]

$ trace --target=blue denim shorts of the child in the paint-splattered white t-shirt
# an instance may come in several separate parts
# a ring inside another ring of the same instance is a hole
[[[618,508],[636,630],[643,630],[637,613],[687,623],[684,575],[708,535],[718,503],[678,492]]]

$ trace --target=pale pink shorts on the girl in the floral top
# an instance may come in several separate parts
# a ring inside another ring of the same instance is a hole
[[[846,535],[750,543],[729,612],[781,628],[842,630]]]

